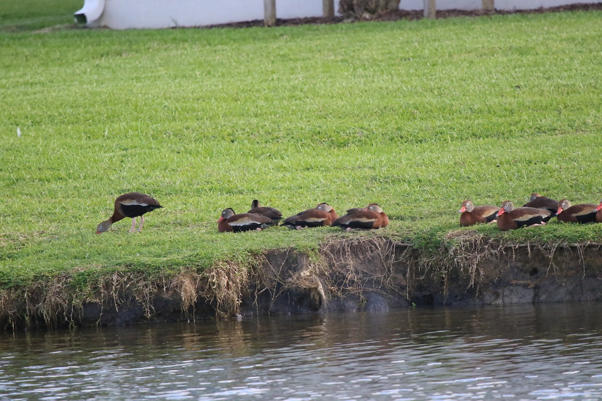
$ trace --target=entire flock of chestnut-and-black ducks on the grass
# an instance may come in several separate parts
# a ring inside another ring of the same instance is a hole
[[[136,218],[140,216],[141,231],[144,225],[144,213],[152,212],[163,206],[149,195],[140,192],[129,192],[115,200],[113,215],[101,222],[96,228],[96,233],[104,233],[114,222],[126,217],[132,219],[133,233]],[[515,207],[511,201],[504,201],[501,206],[474,206],[471,200],[462,202],[459,210],[460,225],[466,227],[477,223],[497,223],[500,230],[512,230],[521,227],[545,225],[554,216],[559,221],[565,222],[602,222],[602,201],[600,204],[583,203],[571,206],[568,200],[555,201],[537,193],[531,195],[529,202],[522,207]],[[262,230],[272,225],[284,225],[294,230],[303,228],[332,226],[344,230],[373,230],[389,225],[389,218],[376,203],[366,207],[356,207],[347,210],[343,216],[338,216],[335,209],[327,203],[320,203],[312,209],[303,210],[290,216],[284,221],[282,213],[273,207],[261,206],[258,200],[253,200],[251,209],[246,213],[235,213],[231,208],[224,209],[217,221],[217,230],[220,233],[231,231]]]

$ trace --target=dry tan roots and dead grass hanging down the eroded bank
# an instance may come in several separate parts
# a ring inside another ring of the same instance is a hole
[[[294,249],[271,251],[204,271],[184,269],[169,277],[113,272],[85,281],[78,274],[90,272],[83,269],[41,277],[28,287],[0,290],[0,322],[5,328],[74,326],[85,319],[89,325],[98,316],[96,324],[118,324],[152,321],[178,309],[184,319],[194,319],[198,311],[198,316],[228,317],[240,314],[241,304],[249,302],[248,306],[253,298],[258,313],[260,308],[269,313],[284,296],[303,298],[299,304],[309,310],[349,296],[361,302],[368,293],[417,302],[421,297],[428,302],[427,297],[435,295],[445,300],[450,293],[462,298],[462,292],[470,298],[507,284],[533,288],[549,276],[597,280],[602,278],[600,246],[509,245],[464,229],[448,233],[438,249],[430,250],[370,234],[334,237],[311,257]],[[554,277],[550,280],[556,283]],[[87,286],[82,287],[82,281]],[[588,288],[588,299],[597,297],[595,287]],[[90,308],[96,308],[92,317],[84,316]]]

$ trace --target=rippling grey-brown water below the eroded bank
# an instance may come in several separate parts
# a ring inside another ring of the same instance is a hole
[[[0,400],[600,400],[602,305],[0,335]]]

